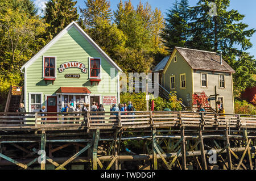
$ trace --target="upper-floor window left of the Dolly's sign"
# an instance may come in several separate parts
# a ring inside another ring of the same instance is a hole
[[[43,78],[56,78],[56,57],[43,56]]]

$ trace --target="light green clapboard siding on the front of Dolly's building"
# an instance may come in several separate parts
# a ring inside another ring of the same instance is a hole
[[[56,57],[56,81],[54,85],[50,81],[46,82],[43,79],[43,56]],[[59,73],[57,68],[60,65],[69,61],[78,61],[85,64],[89,71],[89,57],[101,58],[101,82],[95,86],[89,81],[89,73],[82,73],[81,69],[69,68]],[[113,76],[110,77],[110,72],[113,71]],[[64,78],[65,74],[80,74],[79,79]],[[45,104],[44,95],[53,95],[59,87],[87,87],[92,93],[91,95],[115,95],[118,98],[117,91],[117,70],[105,60],[103,56],[95,49],[75,27],[72,27],[65,33],[55,44],[52,45],[42,56],[40,56],[26,70],[26,108],[28,109],[29,92],[42,92],[43,102]],[[100,100],[101,102],[102,100]],[[109,106],[105,106],[106,111],[109,111]]]

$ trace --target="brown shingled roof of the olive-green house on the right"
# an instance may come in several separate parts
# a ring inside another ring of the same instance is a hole
[[[211,70],[235,73],[223,59],[220,63],[220,55],[216,52],[207,52],[197,49],[175,47],[177,52],[188,62],[192,69],[196,70]]]

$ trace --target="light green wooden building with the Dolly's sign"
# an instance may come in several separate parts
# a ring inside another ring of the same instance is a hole
[[[119,103],[119,72],[114,61],[81,29],[70,23],[21,68],[27,111],[60,112],[68,103]]]

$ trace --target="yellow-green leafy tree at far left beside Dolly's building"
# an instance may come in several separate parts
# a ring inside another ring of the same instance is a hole
[[[45,44],[47,25],[29,1],[0,0],[0,110],[11,85],[22,86],[21,66]]]

